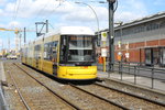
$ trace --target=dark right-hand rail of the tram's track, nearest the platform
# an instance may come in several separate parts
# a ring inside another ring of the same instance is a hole
[[[105,85],[101,85],[101,84],[98,84],[98,82],[96,82],[94,85],[97,85],[97,86],[100,86],[100,87],[103,87],[103,88],[107,88],[107,89],[111,89],[111,90],[114,90],[114,91],[118,91],[118,92],[122,92],[122,94],[125,94],[125,95],[129,95],[129,96],[142,99],[142,100],[150,101],[152,103],[165,107],[165,103],[160,102],[160,101],[151,100],[148,98],[141,97],[141,96],[138,96],[138,95],[134,95],[134,94],[131,94],[131,92],[122,91],[122,90],[119,90],[119,89],[116,89],[116,88],[112,88],[112,87],[108,87],[108,86],[105,86]]]

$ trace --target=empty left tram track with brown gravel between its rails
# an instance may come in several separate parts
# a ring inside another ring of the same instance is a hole
[[[12,67],[14,65],[12,65]],[[12,67],[10,67],[10,68],[12,68]],[[14,68],[15,67],[18,67],[18,66],[15,65]],[[16,69],[16,72],[20,73],[19,69]],[[28,77],[28,76],[23,76],[23,74],[25,74],[25,72],[24,70],[22,70],[22,72],[23,72],[23,73],[21,73],[22,75],[19,74],[19,76],[22,76],[22,78],[24,77],[24,78],[26,78],[26,80],[29,80],[29,84],[30,84],[29,87],[23,85],[23,84],[28,84],[25,80],[24,80],[25,82],[22,82],[19,79],[16,79],[16,77],[15,77],[16,75],[14,72],[12,72],[12,74],[14,74],[14,76],[11,75],[11,72],[10,72],[10,76],[13,80],[16,91],[18,91],[19,96],[21,97],[21,100],[24,103],[26,110],[45,110],[45,109],[46,110],[47,109],[48,110],[53,110],[53,109],[79,110],[78,107],[76,107],[73,103],[69,103],[68,100],[65,100],[58,94],[46,88],[42,82],[37,81],[37,84],[36,84],[36,80],[34,78],[32,78],[31,76],[30,76],[31,79],[29,79],[30,77]],[[34,82],[34,80],[35,80],[35,82]],[[35,94],[38,94],[38,95],[35,95]]]

